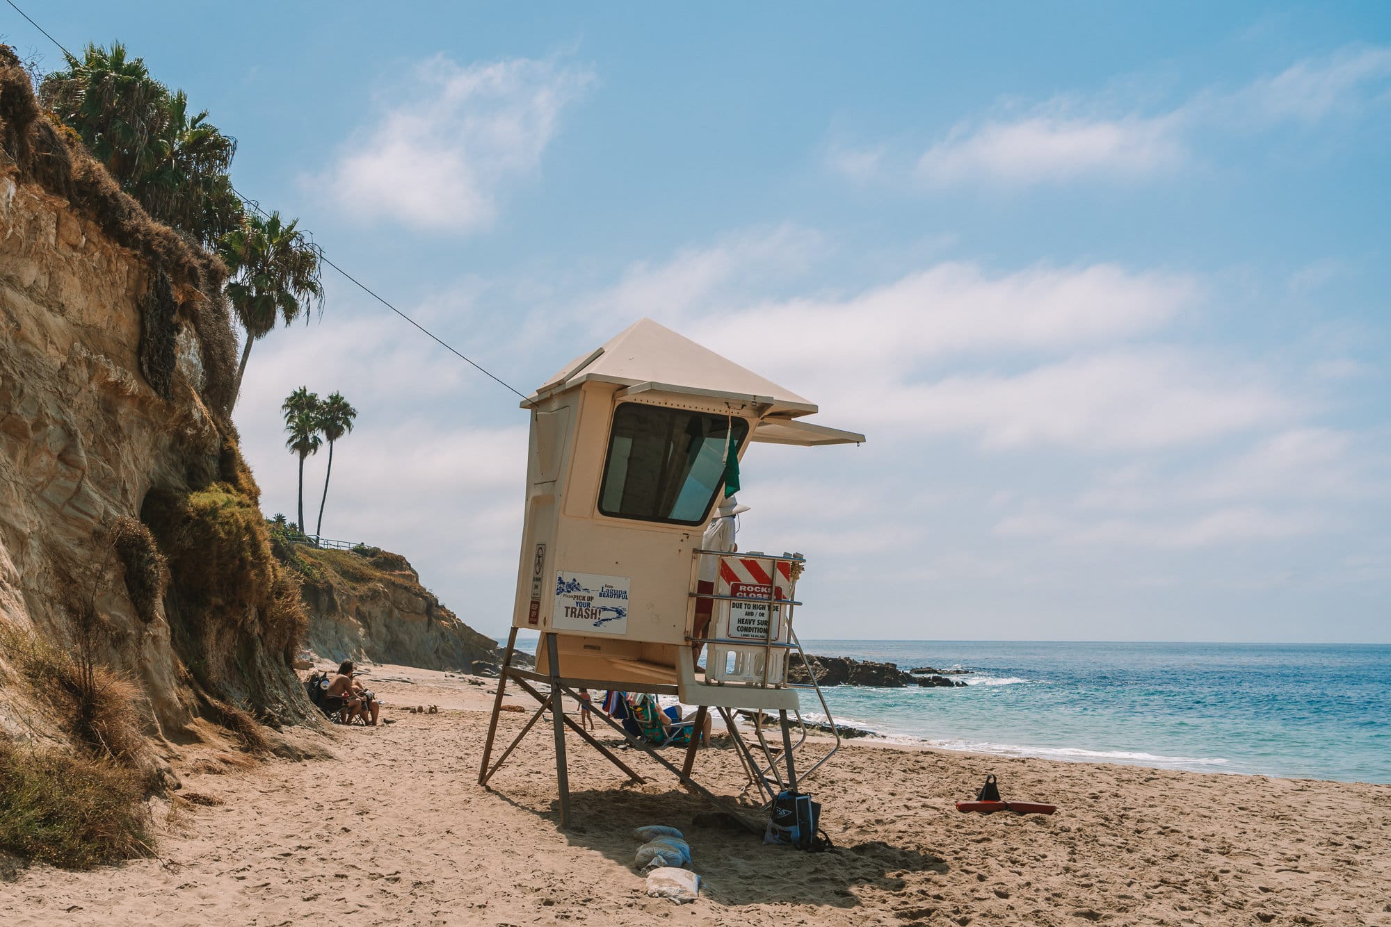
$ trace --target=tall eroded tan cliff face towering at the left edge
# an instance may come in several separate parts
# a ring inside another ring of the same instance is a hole
[[[0,149],[0,631],[68,643],[95,612],[100,660],[138,681],[147,732],[171,742],[238,709],[312,717],[289,666],[298,582],[228,417],[225,270],[39,114],[8,49]],[[161,557],[115,543],[122,516]],[[0,731],[57,724],[0,641]]]

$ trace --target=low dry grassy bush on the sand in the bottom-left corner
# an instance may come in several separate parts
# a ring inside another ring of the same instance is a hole
[[[65,869],[152,856],[134,770],[0,741],[0,851]]]

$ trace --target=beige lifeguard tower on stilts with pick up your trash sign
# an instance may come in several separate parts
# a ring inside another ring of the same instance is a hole
[[[531,441],[516,603],[479,782],[487,784],[548,707],[562,827],[566,727],[643,781],[562,710],[563,695],[576,698],[584,687],[676,695],[697,706],[696,731],[714,710],[765,801],[796,788],[794,752],[807,732],[798,696],[815,687],[787,684],[790,660],[805,660],[791,628],[804,560],[736,555],[729,532],[709,548],[702,536],[718,504],[729,517],[729,484],[751,442],[815,446],[860,443],[864,435],[803,421],[815,404],[648,318],[576,357],[522,407],[531,413]],[[522,630],[540,632],[533,670],[513,666]],[[490,766],[502,696],[513,682],[540,707]],[[740,712],[762,759],[740,734]],[[691,777],[696,738],[677,767],[612,719],[597,717],[734,812]],[[780,742],[771,745],[765,731],[773,717]]]

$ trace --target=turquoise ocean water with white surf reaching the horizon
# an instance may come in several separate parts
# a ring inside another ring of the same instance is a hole
[[[825,689],[843,724],[935,746],[1391,782],[1391,645],[804,641],[970,668],[967,688]]]

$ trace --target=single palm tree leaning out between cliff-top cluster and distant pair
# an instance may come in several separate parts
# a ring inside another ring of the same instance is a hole
[[[314,300],[323,306],[319,252],[295,228],[296,224],[298,220],[284,224],[280,213],[267,218],[248,215],[241,227],[218,242],[218,252],[234,275],[227,285],[227,296],[246,329],[234,403],[242,391],[252,343],[274,331],[277,318],[284,318],[288,325],[302,310],[312,309]],[[305,321],[309,321],[307,313]]]

